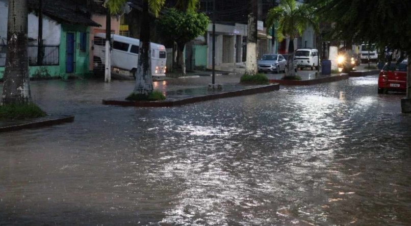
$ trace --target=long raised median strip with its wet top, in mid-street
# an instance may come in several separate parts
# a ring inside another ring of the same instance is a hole
[[[124,98],[113,98],[104,99],[102,104],[123,107],[173,107],[196,102],[210,101],[212,99],[252,95],[275,90],[279,90],[279,84],[260,86],[223,85],[223,90],[218,91],[210,91],[207,87],[200,87],[166,92],[167,99],[165,101],[137,102],[126,101]]]

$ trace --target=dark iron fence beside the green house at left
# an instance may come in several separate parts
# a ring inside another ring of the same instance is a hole
[[[59,45],[43,45],[44,56],[42,65],[59,65],[59,48]],[[7,45],[0,45],[0,67],[4,67],[6,65],[6,49]],[[29,58],[30,66],[37,65],[38,49],[39,48],[37,45],[28,46],[27,56]]]

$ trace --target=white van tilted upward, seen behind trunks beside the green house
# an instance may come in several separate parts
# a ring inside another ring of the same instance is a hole
[[[112,35],[113,51],[111,55],[111,66],[133,73],[137,70],[140,40],[121,35]],[[93,62],[95,68],[104,68],[105,62],[106,33],[94,35]],[[150,44],[151,48],[151,75],[154,77],[166,76],[166,47],[157,43]]]

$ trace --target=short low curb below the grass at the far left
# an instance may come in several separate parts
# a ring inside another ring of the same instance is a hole
[[[73,121],[74,121],[74,116],[65,116],[61,118],[52,118],[52,119],[46,119],[46,120],[41,120],[41,121],[20,123],[16,125],[8,125],[6,127],[0,127],[0,133],[16,131],[16,130],[23,130],[23,129],[35,129],[35,128],[41,128],[41,127],[49,127],[51,125],[57,125],[57,124],[73,122]]]

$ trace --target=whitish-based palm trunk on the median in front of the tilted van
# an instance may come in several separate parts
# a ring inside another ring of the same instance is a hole
[[[136,86],[134,93],[148,95],[152,92],[151,60],[150,60],[150,17],[148,2],[143,1],[141,17],[140,50],[136,71]]]

